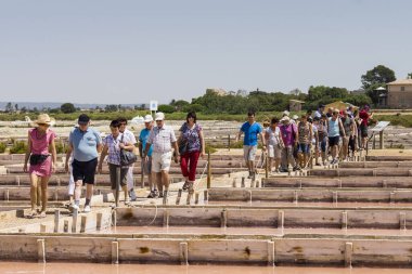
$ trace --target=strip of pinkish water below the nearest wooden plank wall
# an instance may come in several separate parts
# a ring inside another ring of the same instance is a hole
[[[344,268],[270,268],[227,265],[94,264],[0,262],[4,274],[403,274],[412,270]]]

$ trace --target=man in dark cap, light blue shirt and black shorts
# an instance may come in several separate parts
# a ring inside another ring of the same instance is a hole
[[[68,172],[68,159],[73,152],[73,179],[75,181],[75,203],[72,208],[79,210],[81,187],[86,184],[85,212],[90,212],[91,197],[94,188],[94,174],[98,167],[98,157],[102,148],[100,133],[90,127],[90,117],[81,114],[78,127],[73,129],[68,136],[65,170]]]

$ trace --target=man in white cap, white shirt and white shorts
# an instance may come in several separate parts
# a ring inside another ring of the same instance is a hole
[[[175,160],[178,160],[180,154],[173,129],[165,125],[165,115],[163,113],[156,113],[155,121],[156,127],[152,129],[149,135],[143,157],[145,161],[149,161],[147,154],[151,146],[153,146],[152,171],[156,173],[159,197],[167,197],[169,191],[169,169],[172,155],[171,145],[176,152]]]

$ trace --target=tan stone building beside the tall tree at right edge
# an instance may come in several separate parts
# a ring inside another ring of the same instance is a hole
[[[387,83],[387,105],[391,108],[412,108],[412,79]]]

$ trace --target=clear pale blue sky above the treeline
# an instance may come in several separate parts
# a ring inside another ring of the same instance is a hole
[[[410,0],[0,0],[0,101],[140,104],[412,73]]]

